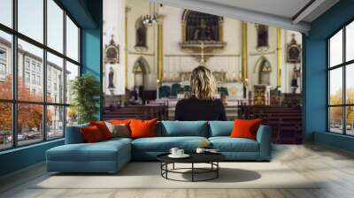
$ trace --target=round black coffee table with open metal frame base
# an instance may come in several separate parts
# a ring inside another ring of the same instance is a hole
[[[219,153],[203,153],[189,154],[188,158],[171,158],[167,154],[158,155],[157,158],[161,162],[161,176],[165,179],[175,180],[175,181],[207,181],[212,179],[219,178],[219,162],[226,159],[226,156]],[[169,169],[168,164],[173,164],[173,168]],[[175,168],[174,164],[191,164],[190,168]],[[210,168],[198,168],[195,167],[195,164],[210,164]],[[189,170],[189,171],[186,171]],[[179,179],[171,179],[168,177],[168,173],[180,173],[180,174],[191,174],[191,180],[179,180]],[[210,174],[212,173],[212,177],[207,179],[196,179],[196,174]]]

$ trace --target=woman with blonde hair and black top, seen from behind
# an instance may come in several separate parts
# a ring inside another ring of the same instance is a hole
[[[176,105],[175,119],[181,121],[227,120],[224,105],[216,99],[217,85],[212,72],[198,66],[190,77],[192,96]]]

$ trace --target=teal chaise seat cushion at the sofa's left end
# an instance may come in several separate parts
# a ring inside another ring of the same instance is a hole
[[[119,152],[130,156],[128,141],[65,144],[50,148],[46,154],[50,161],[115,161]]]

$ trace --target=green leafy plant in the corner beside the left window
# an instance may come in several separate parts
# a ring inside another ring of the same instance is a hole
[[[84,74],[72,80],[70,85],[70,94],[73,96],[73,106],[79,123],[96,120],[95,114],[99,110],[99,81],[92,75]]]

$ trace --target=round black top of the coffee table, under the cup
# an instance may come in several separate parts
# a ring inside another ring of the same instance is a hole
[[[226,159],[226,156],[220,153],[189,153],[188,158],[171,158],[169,153],[157,156],[157,159],[165,163],[210,163],[219,162]]]

